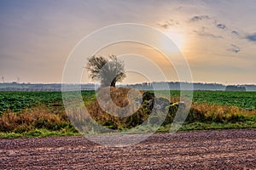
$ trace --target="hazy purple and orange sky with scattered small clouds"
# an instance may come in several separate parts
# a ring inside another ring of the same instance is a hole
[[[104,26],[137,23],[172,38],[193,82],[256,84],[255,7],[253,0],[1,0],[1,81],[61,82],[69,54],[84,37]],[[141,54],[165,70],[163,56],[142,46],[116,44],[97,54]],[[171,70],[168,81],[178,81]],[[128,75],[125,83],[146,81]]]

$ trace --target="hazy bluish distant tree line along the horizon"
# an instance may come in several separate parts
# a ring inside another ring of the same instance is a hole
[[[139,90],[153,90],[154,86],[161,86],[162,83],[168,83],[170,90],[179,90],[180,84],[183,83],[183,87],[191,82],[143,82],[137,84],[122,84],[117,85],[119,88],[137,88]],[[95,87],[99,87],[99,84],[86,83],[86,84],[67,84],[67,88],[70,90],[80,86],[82,90],[95,90]],[[219,83],[193,83],[194,90],[212,90],[212,91],[256,91],[256,85],[237,85],[225,86]],[[237,88],[239,87],[239,88]],[[79,89],[79,88],[77,88]],[[61,83],[51,84],[32,84],[32,83],[0,83],[0,91],[61,91]]]

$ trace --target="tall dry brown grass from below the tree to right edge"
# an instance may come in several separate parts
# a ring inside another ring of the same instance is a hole
[[[127,105],[127,93],[129,89],[127,88],[112,88],[111,96],[113,102],[116,105],[124,106]],[[104,98],[102,94],[101,97]],[[170,99],[171,103],[178,103],[179,98]],[[106,105],[109,103],[106,102]],[[124,118],[119,118],[118,116],[112,116],[106,111],[101,109],[101,106],[98,102],[92,101],[87,105],[87,109],[90,112],[90,116],[96,122],[102,124],[102,126],[107,126],[111,128],[131,128],[140,125],[148,120],[150,110],[147,106],[142,106],[131,116]],[[163,125],[171,124],[176,116],[178,105],[169,105],[168,113],[166,115]],[[162,119],[163,114],[159,112],[159,115],[154,115],[154,120]],[[245,122],[250,119],[251,116],[256,116],[256,110],[249,111],[246,109],[241,109],[237,106],[228,106],[228,105],[216,105],[208,103],[193,103],[189,110],[189,114],[185,120],[186,123],[193,122],[216,122],[216,123],[235,123],[235,122]]]

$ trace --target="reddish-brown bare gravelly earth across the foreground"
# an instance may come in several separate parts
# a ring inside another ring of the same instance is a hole
[[[84,137],[0,139],[0,169],[256,169],[256,129],[157,133],[127,147]]]

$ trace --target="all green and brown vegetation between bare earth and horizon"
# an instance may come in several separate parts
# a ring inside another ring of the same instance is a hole
[[[116,105],[128,104],[128,89],[113,88],[112,99]],[[142,122],[157,122],[161,114],[148,120],[147,107],[141,107],[132,116],[119,118],[100,109],[93,91],[82,92],[84,104],[96,122],[112,129],[125,130]],[[179,92],[171,91],[172,102],[179,101]],[[103,96],[104,97],[104,96]],[[80,135],[66,115],[60,93],[0,93],[0,138],[33,138]],[[226,128],[256,128],[256,93],[251,92],[194,92],[193,104],[186,122],[179,131]],[[108,103],[106,103],[108,105]],[[143,104],[146,105],[146,104]],[[131,109],[131,108],[130,108]],[[168,132],[177,107],[166,107],[168,114],[157,132]],[[86,117],[81,117],[84,121]],[[144,127],[144,132],[154,127]],[[141,132],[141,131],[140,131]]]

